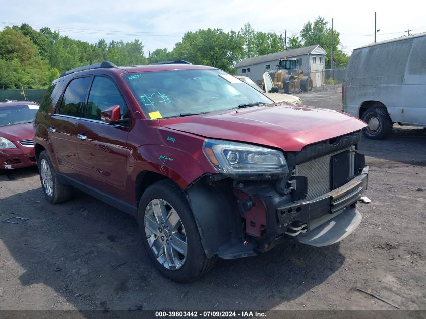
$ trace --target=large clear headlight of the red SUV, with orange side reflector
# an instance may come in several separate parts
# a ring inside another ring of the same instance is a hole
[[[288,173],[284,154],[277,150],[210,139],[204,141],[203,150],[217,171],[230,177],[272,179]]]

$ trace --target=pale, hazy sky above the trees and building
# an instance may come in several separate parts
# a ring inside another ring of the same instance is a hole
[[[49,27],[73,39],[96,43],[104,38],[144,45],[145,56],[157,48],[173,49],[187,31],[220,28],[240,30],[249,22],[256,31],[297,35],[307,21],[318,16],[340,32],[341,49],[374,42],[377,12],[377,41],[426,32],[426,2],[388,1],[253,1],[253,0],[157,0],[125,2],[110,0],[13,2],[3,0],[0,30],[7,25],[28,23],[34,29]]]

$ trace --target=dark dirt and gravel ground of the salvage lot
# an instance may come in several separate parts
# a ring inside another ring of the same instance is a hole
[[[299,95],[341,109],[340,89]],[[363,139],[370,204],[360,227],[322,248],[289,241],[257,257],[219,261],[177,284],[150,264],[136,221],[77,192],[60,205],[42,195],[36,168],[0,176],[0,309],[426,309],[426,130],[395,126]]]

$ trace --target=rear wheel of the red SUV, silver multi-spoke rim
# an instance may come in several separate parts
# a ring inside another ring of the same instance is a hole
[[[38,171],[40,174],[41,189],[50,204],[65,202],[71,198],[73,188],[60,182],[46,151],[38,156]]]

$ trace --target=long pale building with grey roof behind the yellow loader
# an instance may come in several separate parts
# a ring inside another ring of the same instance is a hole
[[[327,54],[321,45],[311,45],[294,50],[265,54],[246,58],[236,63],[236,73],[251,78],[260,84],[263,74],[267,71],[277,70],[279,60],[283,58],[297,58],[299,70],[303,74],[311,76],[314,86],[322,86],[324,83],[324,56]]]

